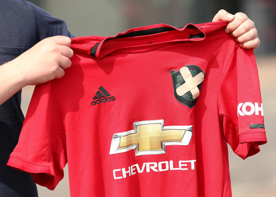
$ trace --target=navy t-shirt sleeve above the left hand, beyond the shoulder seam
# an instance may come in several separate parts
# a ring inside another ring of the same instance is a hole
[[[63,20],[54,18],[44,9],[37,7],[33,3],[28,2],[37,26],[37,42],[51,36],[68,36],[73,38],[74,35],[67,30],[66,23]]]

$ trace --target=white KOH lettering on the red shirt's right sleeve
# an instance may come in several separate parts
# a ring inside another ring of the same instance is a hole
[[[241,115],[241,116],[252,115],[254,112],[255,112],[255,115],[259,115],[259,111],[261,112],[261,115],[264,116],[264,111],[262,109],[262,103],[261,103],[261,107],[259,107],[259,103],[254,103],[254,104],[250,103],[250,102],[239,103],[238,104],[238,111],[237,111],[238,116],[239,115]],[[247,111],[246,107],[250,107],[250,110]]]

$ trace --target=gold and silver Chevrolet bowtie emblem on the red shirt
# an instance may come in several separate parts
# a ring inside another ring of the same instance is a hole
[[[110,153],[135,149],[135,156],[166,153],[167,145],[188,145],[192,126],[166,126],[164,120],[133,123],[133,130],[113,135]]]

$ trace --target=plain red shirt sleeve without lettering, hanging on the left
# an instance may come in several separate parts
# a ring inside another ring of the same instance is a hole
[[[35,183],[53,190],[64,176],[66,163],[65,119],[60,100],[51,82],[37,85],[7,166],[29,173]]]

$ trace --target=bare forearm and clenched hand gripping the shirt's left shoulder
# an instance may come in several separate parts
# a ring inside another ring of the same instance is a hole
[[[41,40],[14,60],[0,66],[0,105],[27,85],[61,78],[71,66],[71,40],[53,36]]]

